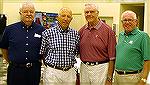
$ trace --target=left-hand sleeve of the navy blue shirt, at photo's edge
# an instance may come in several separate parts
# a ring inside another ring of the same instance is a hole
[[[9,47],[9,31],[8,28],[5,28],[4,33],[2,35],[2,39],[0,41],[0,48],[8,49]]]

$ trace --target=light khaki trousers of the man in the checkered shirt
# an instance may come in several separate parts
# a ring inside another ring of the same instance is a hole
[[[75,85],[76,71],[71,68],[68,71],[62,71],[51,67],[45,67],[43,72],[43,85]]]

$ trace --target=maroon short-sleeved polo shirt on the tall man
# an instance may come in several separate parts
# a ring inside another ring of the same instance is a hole
[[[107,61],[115,59],[116,37],[111,27],[99,21],[95,27],[84,25],[80,30],[81,61]]]

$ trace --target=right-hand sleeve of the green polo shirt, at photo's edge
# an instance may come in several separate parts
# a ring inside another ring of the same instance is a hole
[[[150,37],[147,33],[144,34],[142,40],[142,55],[144,60],[150,60]]]

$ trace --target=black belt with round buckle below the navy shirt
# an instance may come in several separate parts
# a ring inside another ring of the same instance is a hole
[[[41,65],[41,62],[34,62],[34,63],[28,62],[28,63],[23,63],[23,64],[10,62],[9,65],[14,66],[14,67],[20,67],[20,68],[31,68],[35,65]]]

